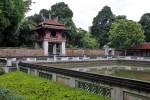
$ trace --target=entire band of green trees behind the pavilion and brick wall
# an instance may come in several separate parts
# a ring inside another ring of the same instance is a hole
[[[77,28],[73,22],[73,11],[68,4],[59,2],[49,9],[41,9],[38,14],[24,18],[30,11],[32,0],[0,1],[0,46],[33,46],[37,34],[31,31],[42,19],[58,19],[68,27],[67,47],[97,48],[108,44],[117,48],[127,48],[142,43],[144,35],[150,42],[150,13],[145,13],[139,23],[127,20],[125,15],[113,15],[109,6],[104,6],[93,18],[91,30]],[[144,32],[144,35],[143,35]]]

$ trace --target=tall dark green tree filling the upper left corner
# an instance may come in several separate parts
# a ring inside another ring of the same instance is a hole
[[[15,46],[24,12],[23,0],[0,1],[0,46]]]

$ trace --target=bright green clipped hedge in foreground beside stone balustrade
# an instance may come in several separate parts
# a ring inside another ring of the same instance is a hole
[[[15,91],[26,100],[110,100],[20,71],[1,75],[0,85]]]

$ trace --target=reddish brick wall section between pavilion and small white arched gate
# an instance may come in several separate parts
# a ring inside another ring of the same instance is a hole
[[[67,56],[83,56],[83,55],[95,55],[102,56],[104,55],[103,49],[66,49]]]

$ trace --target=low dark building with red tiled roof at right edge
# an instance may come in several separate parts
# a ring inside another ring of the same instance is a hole
[[[150,42],[131,46],[127,49],[130,56],[150,56]]]

